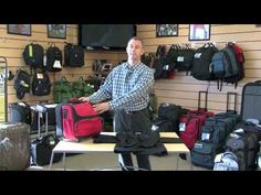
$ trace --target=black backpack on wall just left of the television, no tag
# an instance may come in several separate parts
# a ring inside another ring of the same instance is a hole
[[[84,50],[80,45],[66,43],[64,46],[64,66],[84,66]]]

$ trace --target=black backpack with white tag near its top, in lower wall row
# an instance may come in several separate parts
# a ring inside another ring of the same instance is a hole
[[[32,80],[32,94],[46,96],[51,93],[51,82],[46,72],[35,72]]]

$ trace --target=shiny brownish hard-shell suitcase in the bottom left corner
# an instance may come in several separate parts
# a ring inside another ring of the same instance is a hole
[[[0,170],[22,171],[30,165],[30,126],[0,123]]]

